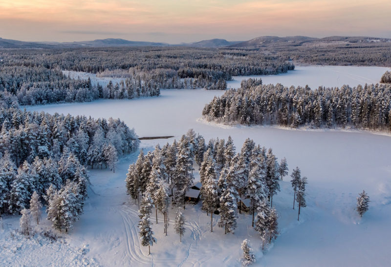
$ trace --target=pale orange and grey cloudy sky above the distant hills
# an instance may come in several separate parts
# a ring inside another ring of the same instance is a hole
[[[181,43],[259,36],[391,38],[391,0],[0,0],[0,37]]]

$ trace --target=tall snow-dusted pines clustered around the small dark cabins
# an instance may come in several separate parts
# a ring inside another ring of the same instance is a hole
[[[280,191],[280,179],[287,175],[286,159],[279,164],[271,148],[266,150],[249,138],[240,153],[235,150],[231,137],[227,142],[211,139],[206,144],[201,135],[189,130],[178,142],[174,140],[162,148],[157,145],[146,155],[140,151],[137,161],[129,166],[126,186],[135,203],[141,195],[139,228],[143,246],[156,242],[150,219],[153,206],[156,224],[158,211],[163,215],[166,235],[170,203],[178,209],[175,229],[180,237],[183,235],[184,218],[179,209],[185,208],[186,192],[193,184],[193,163],[199,166],[201,209],[211,216],[211,231],[213,214],[218,211],[218,226],[224,228],[225,234],[234,233],[238,202],[249,199],[252,225],[260,233],[263,244],[277,237],[278,215],[272,201]],[[301,178],[297,170],[298,175],[292,174],[292,186],[300,209],[305,206],[306,178]]]

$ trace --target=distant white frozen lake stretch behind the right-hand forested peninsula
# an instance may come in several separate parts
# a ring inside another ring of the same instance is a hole
[[[243,79],[260,78],[263,84],[281,83],[285,86],[305,86],[316,89],[319,86],[341,87],[349,84],[378,83],[381,76],[390,68],[356,66],[295,66],[295,70],[279,75],[234,76],[227,82],[227,88],[238,88]]]

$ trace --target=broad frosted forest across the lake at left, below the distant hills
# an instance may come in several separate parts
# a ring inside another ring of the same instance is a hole
[[[0,51],[0,99],[22,105],[158,96],[164,88],[226,89],[234,75],[294,69],[280,56],[189,47],[16,49]],[[107,86],[74,80],[62,70],[124,78]]]

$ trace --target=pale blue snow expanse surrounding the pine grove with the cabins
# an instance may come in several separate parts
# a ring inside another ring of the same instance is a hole
[[[173,229],[174,210],[169,214],[171,224],[167,237],[163,234],[162,215],[158,215],[156,225],[152,213],[157,243],[148,256],[148,247],[140,246],[138,238],[138,207],[125,193],[124,180],[129,164],[137,157],[134,153],[120,160],[115,173],[108,169],[90,170],[92,187],[85,212],[74,229],[63,234],[61,240],[65,245],[56,245],[55,250],[38,241],[23,245],[22,239],[9,237],[10,230],[19,227],[19,216],[4,218],[4,230],[0,229],[0,244],[4,244],[0,245],[0,266],[65,266],[72,259],[76,266],[239,266],[240,243],[245,238],[256,252],[256,266],[390,266],[391,137],[361,131],[204,123],[199,119],[204,104],[222,93],[162,90],[158,98],[100,100],[27,109],[95,118],[119,117],[135,127],[140,137],[173,135],[178,140],[189,128],[194,128],[205,140],[226,139],[231,135],[237,150],[247,137],[257,144],[272,147],[279,160],[286,157],[289,174],[299,166],[302,175],[308,177],[307,207],[302,209],[298,222],[297,209],[292,209],[290,178],[285,177],[281,192],[273,197],[273,205],[279,213],[280,236],[263,254],[261,240],[251,227],[250,215],[240,215],[234,235],[224,235],[223,229],[217,227],[218,216],[215,215],[211,233],[210,217],[199,210],[198,204],[186,207],[182,243]],[[174,138],[142,141],[141,147],[152,150],[155,144],[171,143]],[[360,218],[355,205],[356,196],[363,189],[371,202],[369,211]],[[7,248],[3,249],[5,246]]]

